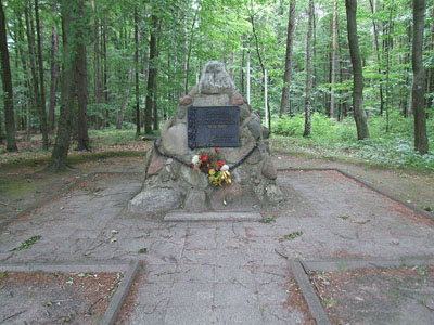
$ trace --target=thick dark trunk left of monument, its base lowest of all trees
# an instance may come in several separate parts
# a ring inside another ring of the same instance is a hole
[[[73,129],[73,105],[75,91],[74,61],[75,51],[73,50],[74,26],[77,22],[78,6],[77,0],[62,0],[62,29],[63,29],[63,69],[61,78],[61,114],[58,121],[58,133],[51,160],[48,169],[51,171],[62,171],[67,168],[67,154],[69,148],[69,138]]]

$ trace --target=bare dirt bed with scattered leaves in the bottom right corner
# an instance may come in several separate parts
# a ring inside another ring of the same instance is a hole
[[[332,324],[434,324],[434,266],[314,272]]]

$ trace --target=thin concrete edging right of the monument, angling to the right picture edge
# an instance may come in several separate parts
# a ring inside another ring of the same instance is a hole
[[[362,180],[360,180],[360,179],[352,176],[350,173],[348,173],[346,171],[343,171],[343,170],[341,170],[339,168],[278,168],[278,172],[279,171],[283,171],[283,172],[284,171],[337,171],[339,173],[343,174],[344,177],[360,183],[361,185],[368,187],[369,190],[374,191],[374,192],[376,192],[376,193],[379,193],[379,194],[381,194],[381,195],[383,195],[383,196],[385,196],[385,197],[387,197],[387,198],[390,198],[390,199],[392,199],[394,202],[397,202],[398,204],[404,205],[405,207],[413,210],[414,212],[417,212],[419,214],[422,214],[423,217],[434,221],[434,214],[433,213],[430,213],[429,211],[425,211],[425,210],[419,208],[414,204],[409,204],[409,203],[407,203],[407,202],[405,202],[405,200],[403,200],[400,198],[397,198],[397,197],[393,196],[392,194],[388,194],[388,193],[386,193],[386,192],[384,192],[382,190],[379,190],[375,186],[373,186],[372,184],[370,184],[370,183],[368,183],[366,181],[362,181]]]

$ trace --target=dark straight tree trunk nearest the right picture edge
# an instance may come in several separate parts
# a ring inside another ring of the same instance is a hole
[[[413,0],[413,47],[411,64],[413,68],[412,108],[414,113],[414,150],[421,155],[427,153],[425,114],[425,68],[423,67],[423,28],[426,0]]]

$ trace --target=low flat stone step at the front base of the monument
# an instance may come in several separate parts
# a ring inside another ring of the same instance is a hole
[[[164,221],[259,221],[263,217],[257,212],[184,212],[173,211],[164,217]]]

